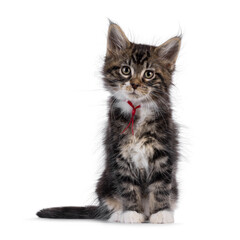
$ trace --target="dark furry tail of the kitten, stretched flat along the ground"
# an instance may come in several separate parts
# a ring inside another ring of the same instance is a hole
[[[100,206],[55,207],[45,208],[37,212],[40,218],[58,219],[108,219],[111,213]]]

